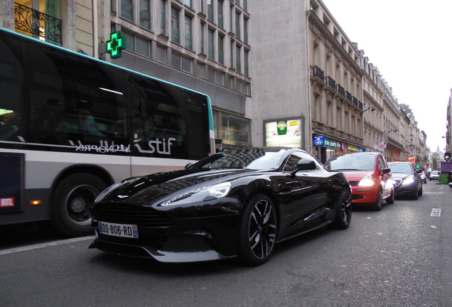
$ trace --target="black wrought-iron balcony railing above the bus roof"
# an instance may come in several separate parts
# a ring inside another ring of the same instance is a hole
[[[14,4],[14,27],[18,30],[61,45],[61,26],[62,21],[58,18]]]

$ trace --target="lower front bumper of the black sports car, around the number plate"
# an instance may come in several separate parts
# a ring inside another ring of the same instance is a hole
[[[159,262],[203,262],[227,259],[237,254],[239,215],[172,220],[169,227],[138,227],[138,238],[99,233],[89,248]]]

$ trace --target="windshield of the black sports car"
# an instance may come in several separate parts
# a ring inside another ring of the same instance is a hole
[[[199,162],[189,166],[189,169],[210,168],[250,168],[271,169],[281,163],[281,158],[286,153],[285,149],[271,150],[246,148],[220,152],[203,158]]]

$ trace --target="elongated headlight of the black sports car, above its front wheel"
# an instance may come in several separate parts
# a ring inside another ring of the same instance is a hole
[[[232,185],[230,182],[204,186],[202,188],[190,190],[190,192],[178,195],[175,198],[171,198],[170,200],[166,200],[160,205],[185,205],[188,203],[200,203],[205,200],[222,198],[225,197],[227,193],[229,193],[231,186]]]

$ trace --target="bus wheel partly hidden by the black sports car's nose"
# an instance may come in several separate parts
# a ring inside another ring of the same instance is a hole
[[[68,237],[94,233],[91,205],[107,185],[90,173],[76,173],[61,181],[53,194],[52,220],[56,230]]]

